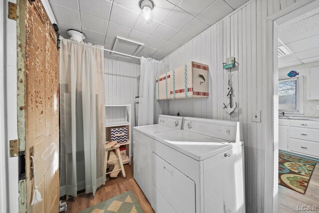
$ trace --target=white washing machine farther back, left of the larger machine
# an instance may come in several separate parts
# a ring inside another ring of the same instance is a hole
[[[152,150],[154,134],[181,131],[183,118],[179,116],[160,115],[155,125],[133,128],[134,179],[152,204]]]

